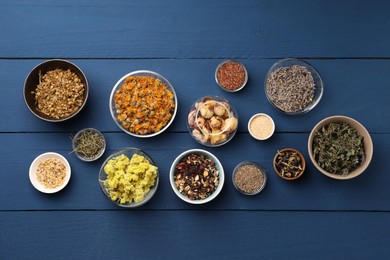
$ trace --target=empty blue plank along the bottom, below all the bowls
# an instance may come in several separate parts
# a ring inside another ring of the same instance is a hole
[[[4,259],[385,259],[389,225],[388,212],[0,212],[0,254]]]

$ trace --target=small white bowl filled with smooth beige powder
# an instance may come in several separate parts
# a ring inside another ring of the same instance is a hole
[[[275,132],[275,123],[269,115],[258,113],[249,119],[248,130],[253,138],[267,140]]]

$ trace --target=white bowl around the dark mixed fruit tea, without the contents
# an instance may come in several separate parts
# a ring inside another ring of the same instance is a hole
[[[216,188],[216,190],[210,195],[208,196],[207,198],[205,199],[201,199],[201,200],[191,200],[189,199],[187,196],[185,196],[184,194],[181,194],[180,191],[177,189],[177,186],[175,184],[175,180],[174,180],[174,174],[175,174],[175,168],[176,168],[176,165],[178,163],[180,163],[180,161],[186,157],[187,155],[189,154],[199,154],[199,155],[204,155],[206,158],[208,159],[211,159],[214,163],[215,163],[215,167],[217,168],[218,172],[219,172],[219,184]],[[222,167],[222,164],[221,162],[218,160],[218,158],[206,151],[206,150],[202,150],[202,149],[191,149],[191,150],[187,150],[183,153],[181,153],[179,156],[176,157],[176,159],[173,161],[172,163],[172,166],[171,166],[171,169],[169,171],[169,181],[171,183],[171,187],[172,187],[172,190],[175,192],[175,194],[180,198],[182,199],[183,201],[187,202],[187,203],[190,203],[190,204],[204,204],[204,203],[207,203],[207,202],[210,202],[212,201],[213,199],[215,199],[218,194],[221,192],[222,190],[222,187],[223,187],[223,184],[225,182],[225,173],[223,171],[223,167]]]

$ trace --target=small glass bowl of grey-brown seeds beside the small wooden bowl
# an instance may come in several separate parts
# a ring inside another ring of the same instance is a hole
[[[264,185],[264,173],[253,164],[239,166],[233,177],[237,188],[245,193],[255,193]]]

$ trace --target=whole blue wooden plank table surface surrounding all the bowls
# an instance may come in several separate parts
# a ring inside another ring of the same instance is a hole
[[[0,259],[388,259],[390,255],[390,3],[386,1],[0,1]],[[268,69],[280,58],[302,58],[320,72],[323,98],[310,113],[287,116],[264,93]],[[22,88],[38,63],[63,58],[86,74],[90,95],[75,118],[48,123],[30,113]],[[249,82],[238,93],[214,81],[224,59],[241,61]],[[150,139],[131,137],[109,113],[112,87],[128,72],[148,69],[174,86],[174,123]],[[186,128],[192,102],[221,95],[239,115],[228,144],[206,148]],[[271,115],[276,133],[254,140],[249,118]],[[374,157],[361,176],[337,181],[309,160],[307,139],[321,119],[346,115],[370,132]],[[107,140],[103,158],[70,154],[70,135],[86,127]],[[126,210],[100,191],[97,175],[123,147],[149,153],[160,169],[151,201]],[[308,162],[295,182],[279,178],[272,159],[294,147]],[[222,162],[226,182],[206,205],[172,191],[168,173],[181,152],[206,148]],[[41,153],[64,155],[72,178],[46,195],[28,170]],[[248,197],[231,179],[243,160],[261,164],[268,183]]]

